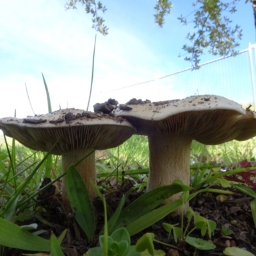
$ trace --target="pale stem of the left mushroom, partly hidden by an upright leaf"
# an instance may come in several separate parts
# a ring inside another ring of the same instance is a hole
[[[84,156],[90,154],[93,151],[93,149],[83,149],[83,150],[75,150],[72,152],[69,152],[67,154],[62,155],[62,172],[65,173],[68,170],[68,166],[70,164],[76,164],[81,159],[83,159]],[[95,171],[95,152],[92,152],[90,156],[86,157],[81,163],[79,163],[76,166],[77,171],[81,175],[82,179],[84,180],[84,184],[86,188],[88,189],[88,193],[90,197],[93,199],[97,196],[96,192],[90,185],[89,180],[92,180],[92,182],[96,183],[96,171]],[[62,185],[62,198],[63,198],[63,205],[65,209],[70,208],[70,203],[67,196],[67,190],[65,186],[65,177],[63,179],[63,185]]]

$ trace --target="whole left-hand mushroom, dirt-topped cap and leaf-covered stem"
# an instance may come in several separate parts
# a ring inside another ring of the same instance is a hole
[[[96,182],[93,150],[116,147],[134,134],[135,130],[123,118],[80,109],[61,109],[46,115],[20,119],[0,118],[0,129],[28,148],[62,156],[62,170],[67,171],[90,154],[76,168],[83,178],[91,198],[96,196],[89,180]],[[65,179],[63,179],[65,180]],[[67,191],[63,184],[63,205],[68,207]]]

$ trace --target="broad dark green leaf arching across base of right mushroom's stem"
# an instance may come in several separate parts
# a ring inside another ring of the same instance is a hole
[[[126,227],[133,221],[138,220],[138,218],[141,216],[148,214],[148,212],[155,209],[170,196],[182,191],[188,191],[190,189],[190,187],[180,184],[172,184],[152,189],[151,191],[140,196],[138,199],[134,200],[134,202],[132,202],[120,213],[114,228]]]

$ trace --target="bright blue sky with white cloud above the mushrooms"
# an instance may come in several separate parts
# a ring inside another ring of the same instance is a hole
[[[41,72],[49,87],[52,110],[59,109],[59,106],[85,109],[90,90],[95,31],[92,29],[92,18],[86,15],[84,6],[77,3],[77,10],[66,11],[65,0],[51,1],[51,4],[47,0],[0,0],[0,3],[0,117],[13,116],[15,109],[20,118],[33,115],[25,83],[35,114],[47,113]],[[237,81],[234,78],[237,70],[242,72],[241,81],[250,83],[248,68],[242,70],[248,64],[244,56],[231,60],[232,63],[238,61],[236,70],[230,68],[232,70],[225,71],[225,75],[224,68],[231,67],[228,61],[198,72],[189,71],[157,80],[190,66],[178,56],[184,54],[181,48],[188,44],[185,37],[193,25],[182,26],[177,17],[181,13],[188,15],[193,10],[192,1],[173,0],[171,14],[166,17],[163,28],[154,23],[155,0],[102,0],[102,3],[108,9],[103,17],[109,27],[109,35],[97,35],[90,110],[93,104],[104,102],[109,97],[126,102],[132,97],[167,100],[196,92],[220,91],[221,94],[225,86]],[[238,50],[246,49],[248,42],[254,44],[251,4],[239,1],[232,20],[243,29],[243,40]],[[213,56],[205,54],[202,62],[212,59]],[[214,75],[215,79],[212,79],[212,74],[218,76]],[[205,80],[204,76],[209,79]],[[218,77],[222,77],[221,80]],[[152,79],[156,81],[118,90]],[[187,88],[186,81],[191,82],[191,79],[195,85]],[[213,90],[217,88],[216,84],[220,87],[218,91]],[[228,97],[243,102],[252,101],[252,92],[248,88],[244,88],[243,97],[238,91],[236,95],[228,92]]]

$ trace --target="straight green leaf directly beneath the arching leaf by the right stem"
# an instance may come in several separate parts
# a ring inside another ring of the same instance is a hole
[[[154,211],[149,212],[148,214],[143,215],[142,217],[133,221],[131,224],[127,225],[125,228],[129,232],[130,236],[133,236],[141,230],[150,227],[157,221],[162,220],[167,214],[170,214],[170,212],[175,211],[182,205],[182,199],[170,202],[169,204],[166,204],[160,208],[155,209]]]

